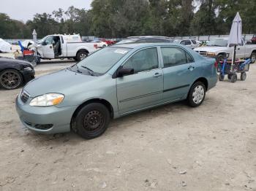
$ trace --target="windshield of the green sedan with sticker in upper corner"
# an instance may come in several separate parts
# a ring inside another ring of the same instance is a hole
[[[105,47],[102,50],[94,52],[83,61],[80,61],[72,68],[77,68],[78,72],[86,71],[93,76],[105,74],[111,69],[124,55],[129,52],[129,48]]]

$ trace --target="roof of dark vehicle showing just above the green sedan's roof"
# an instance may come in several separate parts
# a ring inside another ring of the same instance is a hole
[[[160,42],[173,42],[173,39],[165,36],[130,36],[126,39],[117,42],[116,44],[129,44],[129,43],[160,43]]]

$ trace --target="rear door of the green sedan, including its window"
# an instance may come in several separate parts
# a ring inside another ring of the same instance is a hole
[[[164,63],[164,101],[175,101],[187,95],[200,74],[200,65],[181,47],[161,47]]]

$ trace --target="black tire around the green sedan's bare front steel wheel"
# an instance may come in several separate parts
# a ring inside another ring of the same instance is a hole
[[[102,114],[104,114],[105,117],[104,125],[102,126],[102,128],[95,132],[89,132],[88,130],[83,128],[84,117],[86,116],[86,114],[88,114],[88,112],[91,112],[92,110],[97,110],[101,112]],[[78,112],[77,117],[75,117],[75,131],[76,133],[78,133],[78,135],[82,136],[85,139],[94,139],[101,136],[105,132],[105,130],[107,130],[109,122],[110,112],[108,111],[108,108],[106,106],[100,103],[88,104],[86,106],[83,106],[83,108],[80,109],[80,111]]]

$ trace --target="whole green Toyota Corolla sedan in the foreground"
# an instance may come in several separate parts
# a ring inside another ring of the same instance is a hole
[[[30,130],[93,139],[127,114],[186,99],[200,106],[216,84],[215,60],[181,44],[118,44],[29,82],[16,109]]]

